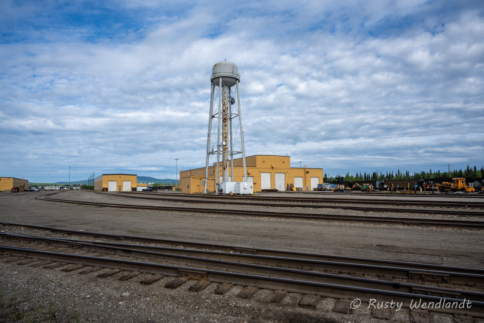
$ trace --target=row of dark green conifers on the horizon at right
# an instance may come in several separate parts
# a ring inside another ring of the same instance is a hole
[[[446,177],[484,177],[484,167],[481,166],[481,169],[477,169],[477,167],[474,165],[473,168],[471,168],[469,165],[467,165],[467,168],[462,170],[462,169],[454,169],[451,170],[450,172],[444,171],[441,172],[440,169],[437,171],[432,171],[432,169],[429,169],[429,171],[422,170],[420,172],[413,172],[410,173],[408,170],[406,171],[400,171],[398,169],[396,172],[378,172],[374,171],[372,173],[370,172],[357,172],[355,175],[350,175],[349,172],[346,173],[346,175],[341,176],[341,175],[336,175],[335,177],[330,176],[328,178],[328,173],[324,174],[324,180],[325,181],[330,181],[332,182],[336,178],[339,177],[344,177],[344,181],[347,182],[355,182],[355,181],[385,181],[385,180],[409,180],[409,179],[431,179],[431,178],[446,178]]]

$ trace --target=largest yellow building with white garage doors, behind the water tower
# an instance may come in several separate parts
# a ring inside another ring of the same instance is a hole
[[[287,185],[301,188],[304,191],[312,190],[323,183],[322,168],[291,168],[289,156],[254,155],[245,157],[247,168],[247,181],[254,183],[254,192],[262,189],[277,189],[285,191]],[[243,181],[242,158],[234,159],[234,176],[232,178],[228,163],[229,181]],[[209,192],[215,191],[216,163],[209,167],[207,188]],[[222,182],[222,163],[219,164],[219,182]],[[185,193],[203,193],[205,167],[182,170],[180,172],[181,191]]]

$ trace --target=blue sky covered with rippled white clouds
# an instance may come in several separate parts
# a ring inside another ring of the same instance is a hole
[[[481,0],[2,0],[0,21],[0,176],[204,167],[223,60],[247,156],[330,176],[484,165]]]

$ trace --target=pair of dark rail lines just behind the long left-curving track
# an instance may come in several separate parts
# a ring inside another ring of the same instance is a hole
[[[484,203],[478,202],[436,202],[436,201],[386,201],[386,200],[351,200],[351,199],[300,199],[300,198],[272,198],[272,197],[242,197],[242,198],[231,198],[226,196],[211,198],[199,198],[195,197],[178,197],[178,198],[165,198],[160,196],[139,196],[138,194],[112,194],[105,192],[96,192],[98,194],[105,194],[117,197],[126,197],[134,199],[145,199],[145,200],[165,200],[171,202],[185,202],[185,203],[227,203],[230,200],[231,204],[240,205],[260,205],[260,206],[278,206],[278,207],[303,207],[303,208],[328,208],[328,209],[345,209],[345,210],[357,210],[357,211],[377,211],[377,212],[395,212],[395,213],[431,213],[431,214],[442,214],[442,215],[469,215],[469,216],[484,216],[482,211],[468,211],[468,208],[482,208],[484,209]],[[268,202],[274,202],[269,204]],[[281,203],[286,202],[287,204]],[[290,203],[290,204],[289,204]],[[312,203],[312,204],[304,204]],[[349,203],[349,204],[386,204],[386,205],[405,205],[405,206],[425,206],[425,207],[453,207],[460,208],[463,210],[429,210],[429,209],[408,209],[408,208],[383,208],[383,207],[361,207],[361,206],[350,206],[350,205],[331,205],[328,203]]]

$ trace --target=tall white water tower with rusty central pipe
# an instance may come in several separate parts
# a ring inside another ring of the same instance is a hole
[[[216,156],[216,168],[215,174],[213,174],[215,179],[215,192],[218,193],[222,189],[223,193],[228,193],[228,191],[226,192],[226,187],[231,187],[231,184],[235,185],[234,155],[242,154],[242,182],[246,182],[247,176],[239,94],[240,75],[237,70],[237,65],[228,61],[216,63],[213,65],[210,80],[212,82],[212,92],[210,96],[204,192],[208,192],[207,180],[209,164],[211,163],[210,157]],[[237,96],[237,100],[235,96]],[[233,126],[234,124],[235,127]],[[222,175],[219,174],[220,157],[222,157]],[[230,177],[228,172],[229,158]],[[222,177],[221,180],[220,177]]]

